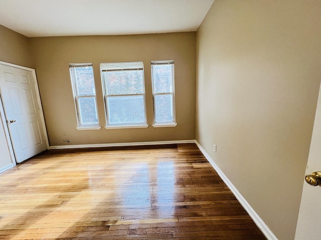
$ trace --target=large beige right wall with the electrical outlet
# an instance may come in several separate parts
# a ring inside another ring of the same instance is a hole
[[[197,32],[196,139],[282,240],[294,238],[321,79],[320,8],[215,0]]]

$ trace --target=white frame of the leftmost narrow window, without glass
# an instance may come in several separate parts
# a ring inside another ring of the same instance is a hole
[[[86,95],[80,95],[78,93],[78,85],[77,85],[77,77],[76,77],[76,68],[77,67],[92,67],[92,74],[94,77],[94,94],[86,94]],[[97,107],[97,96],[96,96],[96,84],[95,84],[95,76],[94,76],[94,68],[92,62],[86,62],[86,63],[69,63],[69,73],[70,73],[70,79],[71,79],[71,85],[72,85],[72,91],[73,91],[73,98],[75,103],[75,110],[76,110],[76,118],[77,118],[77,129],[78,130],[98,130],[101,128],[99,124],[99,115],[98,115],[98,107]],[[95,100],[95,110],[97,115],[97,123],[94,124],[82,124],[82,116],[81,111],[79,108],[79,99],[81,98],[87,98],[87,97],[94,97]]]

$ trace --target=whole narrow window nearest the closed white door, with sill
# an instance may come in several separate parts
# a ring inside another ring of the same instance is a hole
[[[92,63],[69,64],[79,130],[100,129]]]

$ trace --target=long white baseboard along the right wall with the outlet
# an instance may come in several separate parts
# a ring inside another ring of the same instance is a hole
[[[198,143],[197,140],[195,140],[195,143],[200,148],[206,159],[211,163],[213,168],[217,171],[219,176],[222,178],[222,180],[225,182],[225,184],[230,188],[230,190],[233,192],[237,200],[241,203],[241,205],[245,208],[247,213],[251,216],[255,224],[261,229],[263,234],[267,237],[269,240],[277,240],[276,236],[273,234],[273,232],[270,230],[270,228],[265,224],[265,222],[262,220],[262,218],[255,212],[255,210],[251,207],[251,205],[245,200],[245,198],[242,196],[242,194],[237,190],[237,188],[233,185],[233,183],[227,178],[227,176],[223,173],[223,171],[216,165],[216,163],[213,161],[213,159],[206,153],[206,151],[203,149],[203,147]]]

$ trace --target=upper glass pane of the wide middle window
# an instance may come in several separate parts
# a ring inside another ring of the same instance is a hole
[[[144,92],[142,70],[104,71],[108,95]]]

